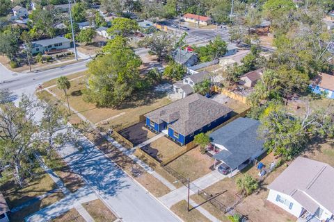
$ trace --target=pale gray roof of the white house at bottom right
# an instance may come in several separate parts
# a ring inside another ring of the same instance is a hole
[[[297,157],[268,188],[292,196],[303,207],[308,207],[306,209],[310,212],[319,207],[315,206],[319,203],[334,214],[333,185],[333,167],[323,162]]]

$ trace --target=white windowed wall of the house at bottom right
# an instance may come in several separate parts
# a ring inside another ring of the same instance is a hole
[[[289,181],[287,181],[287,182],[289,182]],[[277,195],[280,195],[282,198],[285,198],[286,200],[289,200],[291,203],[293,203],[294,205],[292,206],[292,209],[290,210],[289,206],[276,201]],[[291,196],[287,196],[286,194],[282,194],[282,193],[280,193],[276,190],[270,189],[267,199],[271,203],[273,203],[275,205],[278,205],[278,207],[280,207],[283,210],[289,212],[290,214],[296,216],[297,218],[299,216],[301,216],[301,213],[303,212],[303,206],[301,206],[298,202],[296,202],[296,200],[294,200],[294,198],[292,198]]]

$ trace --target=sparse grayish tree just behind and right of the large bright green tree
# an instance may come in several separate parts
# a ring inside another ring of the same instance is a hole
[[[157,55],[160,61],[174,49],[174,42],[173,35],[159,31],[147,35],[139,44],[150,49],[150,53]]]

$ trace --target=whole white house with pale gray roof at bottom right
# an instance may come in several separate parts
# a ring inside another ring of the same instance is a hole
[[[328,221],[334,214],[333,185],[333,167],[298,157],[268,186],[268,200],[296,217]]]

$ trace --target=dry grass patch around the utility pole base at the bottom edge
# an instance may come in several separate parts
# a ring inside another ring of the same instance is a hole
[[[190,205],[190,207],[193,207]],[[187,210],[187,203],[186,200],[182,200],[179,203],[176,203],[170,210],[175,212],[177,216],[185,222],[209,222],[210,220],[207,219],[203,214],[201,214],[196,208],[192,209],[190,212]]]

